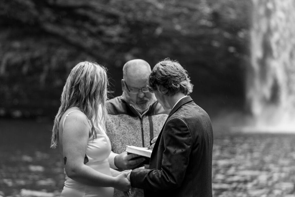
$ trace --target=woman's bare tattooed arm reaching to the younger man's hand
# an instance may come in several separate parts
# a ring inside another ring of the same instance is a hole
[[[129,172],[112,177],[84,164],[90,128],[87,118],[82,113],[74,113],[67,117],[61,139],[66,174],[69,178],[86,185],[114,187],[128,191],[130,182],[126,176]]]

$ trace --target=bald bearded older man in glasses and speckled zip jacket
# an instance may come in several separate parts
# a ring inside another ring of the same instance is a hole
[[[127,61],[121,79],[122,95],[107,101],[108,115],[106,133],[112,144],[109,163],[112,173],[142,166],[145,158],[127,154],[126,145],[153,147],[160,130],[168,117],[155,95],[146,87],[150,65],[142,59]],[[114,196],[123,196],[120,191]],[[143,196],[137,189],[131,196]]]

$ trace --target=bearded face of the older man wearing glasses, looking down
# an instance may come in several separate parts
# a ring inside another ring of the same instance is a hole
[[[123,91],[128,95],[127,102],[130,102],[137,110],[143,111],[154,101],[154,95],[151,92],[143,92],[148,79],[125,79]],[[131,90],[139,89],[138,93],[132,93]]]

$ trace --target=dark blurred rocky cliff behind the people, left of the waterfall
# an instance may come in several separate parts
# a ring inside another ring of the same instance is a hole
[[[132,58],[177,59],[194,94],[242,96],[249,10],[239,1],[0,2],[0,115],[53,116],[70,69],[96,61],[114,78]],[[120,94],[118,89],[114,95]],[[193,94],[193,96],[194,96]]]

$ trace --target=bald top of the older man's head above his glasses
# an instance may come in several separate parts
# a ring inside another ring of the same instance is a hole
[[[123,66],[123,79],[127,82],[148,80],[150,64],[142,59],[127,61]]]

